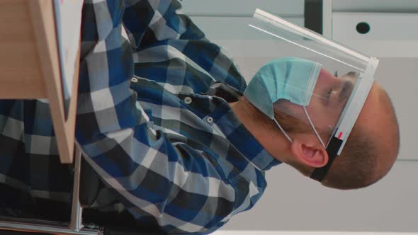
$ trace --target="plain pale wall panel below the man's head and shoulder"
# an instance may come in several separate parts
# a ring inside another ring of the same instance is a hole
[[[375,185],[324,188],[289,166],[267,173],[269,186],[252,210],[223,229],[418,232],[418,162],[397,161]]]

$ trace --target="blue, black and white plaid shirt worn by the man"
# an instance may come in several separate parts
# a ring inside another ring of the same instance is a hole
[[[86,0],[76,139],[106,185],[99,199],[117,200],[94,206],[118,205],[169,233],[209,233],[259,200],[264,171],[279,162],[225,101],[246,88],[237,67],[179,6]],[[69,202],[72,171],[49,112],[43,101],[0,101],[0,182]]]

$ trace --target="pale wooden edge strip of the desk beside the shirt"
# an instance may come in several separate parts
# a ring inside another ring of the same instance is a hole
[[[28,7],[35,28],[38,55],[43,70],[50,113],[54,125],[57,147],[62,164],[72,163],[74,157],[74,131],[77,112],[77,93],[79,81],[79,51],[77,53],[72,86],[72,98],[69,105],[68,120],[64,117],[60,57],[56,38],[54,6],[50,0],[28,1]],[[79,48],[80,50],[80,48]]]

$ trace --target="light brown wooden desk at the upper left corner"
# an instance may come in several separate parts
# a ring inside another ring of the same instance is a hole
[[[0,98],[47,98],[60,160],[68,164],[74,155],[79,52],[66,118],[56,31],[53,1],[0,1]]]

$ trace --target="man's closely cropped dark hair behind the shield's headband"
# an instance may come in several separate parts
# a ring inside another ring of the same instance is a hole
[[[379,101],[385,110],[385,117],[391,124],[385,127],[391,134],[392,141],[389,146],[379,149],[372,141],[375,139],[373,133],[354,125],[341,156],[332,164],[327,176],[322,180],[322,185],[339,189],[363,188],[377,182],[390,171],[400,148],[399,125],[392,101],[383,89],[380,90]],[[388,159],[390,156],[381,155],[392,154],[393,150],[395,158]],[[385,160],[388,162],[381,164],[381,161]]]

